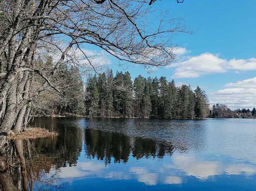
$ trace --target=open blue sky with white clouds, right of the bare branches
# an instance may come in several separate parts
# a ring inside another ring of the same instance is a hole
[[[232,109],[256,107],[256,1],[214,0],[176,3],[162,0],[155,7],[170,9],[171,17],[186,17],[186,25],[196,30],[173,39],[180,45],[180,58],[172,67],[148,74],[140,66],[124,70],[132,79],[165,76],[177,85],[199,85],[209,95],[211,104],[223,103]],[[114,71],[122,70],[109,57]]]

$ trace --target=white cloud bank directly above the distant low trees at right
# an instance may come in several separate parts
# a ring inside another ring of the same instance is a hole
[[[209,94],[211,104],[223,103],[231,109],[252,109],[256,106],[256,77],[227,83],[225,87]]]

